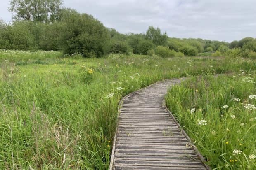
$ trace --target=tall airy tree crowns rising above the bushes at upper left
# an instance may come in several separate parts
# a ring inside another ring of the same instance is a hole
[[[60,20],[63,0],[11,0],[9,12],[13,19],[54,22]]]

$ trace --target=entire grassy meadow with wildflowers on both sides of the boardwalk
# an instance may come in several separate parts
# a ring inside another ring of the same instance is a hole
[[[219,73],[228,75],[211,76]],[[211,167],[256,169],[249,158],[256,154],[256,113],[244,107],[256,104],[249,99],[256,95],[255,73],[256,61],[240,57],[1,50],[0,169],[107,170],[119,100],[176,77],[191,78],[171,88],[166,104]],[[235,149],[242,153],[234,156]]]

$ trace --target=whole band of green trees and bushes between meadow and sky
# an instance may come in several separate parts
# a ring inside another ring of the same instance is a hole
[[[62,0],[11,0],[9,11],[13,22],[0,21],[0,49],[62,50],[64,54],[80,53],[84,57],[102,57],[109,53],[187,55],[230,49],[256,53],[256,40],[220,42],[203,39],[168,37],[160,28],[149,26],[146,33],[121,34],[106,28],[89,14],[65,8]]]

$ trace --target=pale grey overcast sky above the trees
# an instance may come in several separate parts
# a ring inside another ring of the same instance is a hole
[[[0,19],[11,21],[9,1],[0,0]],[[256,0],[64,0],[120,33],[159,27],[169,37],[231,42],[256,37]]]

